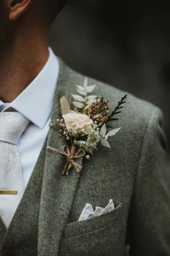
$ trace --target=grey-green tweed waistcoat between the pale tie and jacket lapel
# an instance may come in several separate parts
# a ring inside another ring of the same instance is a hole
[[[35,169],[12,218],[9,229],[0,222],[1,254],[11,250],[14,255],[37,255],[37,231],[40,210],[40,195],[45,161],[45,144],[37,159]],[[29,248],[29,249],[28,249]]]

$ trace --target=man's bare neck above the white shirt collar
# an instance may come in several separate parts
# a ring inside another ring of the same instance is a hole
[[[28,39],[29,40],[29,39]],[[15,43],[12,51],[6,51],[0,62],[0,100],[14,101],[35,79],[48,60],[48,43],[35,40],[35,43]]]

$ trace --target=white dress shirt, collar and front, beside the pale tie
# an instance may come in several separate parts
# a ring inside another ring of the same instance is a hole
[[[35,80],[11,103],[4,103],[0,100],[0,112],[12,107],[30,120],[30,124],[25,129],[18,144],[24,187],[27,187],[42,145],[48,135],[58,72],[58,59],[51,48],[49,48],[48,61],[37,77],[35,77]]]

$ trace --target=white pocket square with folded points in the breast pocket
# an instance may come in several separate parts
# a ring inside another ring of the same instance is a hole
[[[112,199],[109,200],[109,203],[105,208],[97,206],[95,210],[93,210],[91,204],[86,203],[84,209],[81,212],[81,215],[80,215],[78,221],[86,221],[89,218],[101,216],[102,214],[109,213],[112,210],[115,210],[115,205],[114,205]]]

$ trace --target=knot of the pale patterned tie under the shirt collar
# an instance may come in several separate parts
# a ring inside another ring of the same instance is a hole
[[[0,141],[17,145],[19,138],[30,123],[18,112],[0,113]]]

